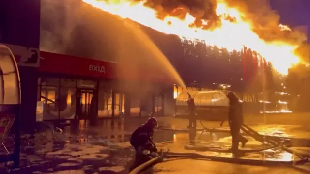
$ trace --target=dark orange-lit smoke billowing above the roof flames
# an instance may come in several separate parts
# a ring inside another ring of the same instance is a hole
[[[223,1],[229,7],[241,11],[244,14],[244,20],[252,24],[253,32],[256,32],[265,41],[284,40],[292,44],[300,44],[307,39],[302,32],[282,30],[279,27],[280,16],[270,8],[269,0]],[[144,5],[155,9],[157,17],[160,19],[168,15],[184,19],[189,13],[196,18],[192,27],[212,30],[221,25],[219,16],[216,14],[217,0],[147,0]],[[203,23],[203,21],[208,22]]]

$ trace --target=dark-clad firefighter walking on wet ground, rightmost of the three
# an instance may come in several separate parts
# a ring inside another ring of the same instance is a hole
[[[239,149],[239,142],[242,143],[242,147],[245,147],[248,142],[245,137],[240,135],[240,129],[243,124],[242,104],[233,92],[228,92],[226,96],[229,100],[228,124],[233,137],[233,145],[231,150],[233,152],[237,152]]]

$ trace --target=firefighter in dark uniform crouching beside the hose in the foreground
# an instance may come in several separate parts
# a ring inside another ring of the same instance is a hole
[[[130,171],[147,162],[157,155],[157,148],[153,142],[154,128],[158,126],[155,117],[150,117],[143,125],[138,127],[130,137],[130,144],[136,150],[134,165]]]

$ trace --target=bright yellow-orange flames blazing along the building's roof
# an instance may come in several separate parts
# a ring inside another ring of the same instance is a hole
[[[183,41],[204,41],[210,46],[226,48],[228,51],[241,50],[243,46],[249,47],[262,55],[281,74],[286,75],[288,68],[299,63],[299,57],[294,54],[298,45],[287,42],[266,42],[253,32],[250,23],[244,20],[245,14],[238,9],[228,7],[225,1],[219,0],[216,13],[220,16],[222,25],[214,30],[193,28],[195,17],[187,14],[185,19],[173,16],[158,19],[154,9],[145,7],[145,2],[132,2],[130,0],[83,0],[84,2],[103,11],[128,18],[144,26],[153,28],[166,34],[178,35]],[[230,16],[227,17],[227,16]],[[235,20],[230,20],[233,17]],[[207,21],[204,21],[207,22]],[[279,25],[281,30],[290,30],[287,26]]]

